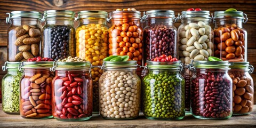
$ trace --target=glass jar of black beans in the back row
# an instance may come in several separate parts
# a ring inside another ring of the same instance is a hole
[[[76,56],[74,19],[73,11],[44,11],[42,57],[62,60]]]

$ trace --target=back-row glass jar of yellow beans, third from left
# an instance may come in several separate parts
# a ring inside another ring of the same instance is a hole
[[[92,63],[93,112],[99,114],[99,78],[103,59],[108,57],[108,12],[78,12],[76,29],[76,56]]]

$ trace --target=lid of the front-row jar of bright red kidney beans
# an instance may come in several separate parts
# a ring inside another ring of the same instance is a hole
[[[51,71],[55,70],[90,70],[91,63],[89,61],[85,62],[57,62],[54,61]]]

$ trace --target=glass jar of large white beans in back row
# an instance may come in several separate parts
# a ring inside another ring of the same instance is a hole
[[[179,34],[179,60],[207,60],[213,55],[213,31],[209,11],[182,11]]]

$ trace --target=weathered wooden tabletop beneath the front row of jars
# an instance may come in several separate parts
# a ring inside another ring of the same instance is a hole
[[[226,120],[196,119],[191,114],[180,121],[156,121],[142,115],[129,121],[113,121],[93,116],[88,121],[62,122],[56,119],[24,119],[20,115],[8,115],[0,104],[0,127],[256,127],[256,105],[250,115],[233,116]]]

